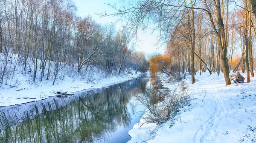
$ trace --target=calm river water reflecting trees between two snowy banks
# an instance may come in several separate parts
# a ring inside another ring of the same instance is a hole
[[[0,143],[126,143],[145,111],[137,96],[149,83],[146,74],[69,98],[1,107]]]

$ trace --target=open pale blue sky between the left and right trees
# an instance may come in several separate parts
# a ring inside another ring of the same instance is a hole
[[[119,4],[122,5],[119,0],[73,0],[77,7],[77,15],[80,17],[87,17],[90,15],[96,22],[101,24],[116,22],[118,17],[100,17],[99,15],[96,15],[96,13],[100,14],[105,12],[107,14],[114,13],[114,9],[108,6],[107,4]],[[116,29],[122,29],[122,25],[124,25],[124,22],[117,22],[116,23]],[[146,31],[138,31],[137,36],[139,41],[137,42],[134,39],[134,43],[136,42],[136,50],[137,51],[143,51],[145,52],[146,56],[150,56],[154,53],[164,53],[165,51],[165,45],[162,46],[156,46],[157,44],[157,36],[159,33],[157,31],[153,32],[151,30]],[[131,44],[130,44],[131,45]],[[159,44],[160,45],[160,44]]]

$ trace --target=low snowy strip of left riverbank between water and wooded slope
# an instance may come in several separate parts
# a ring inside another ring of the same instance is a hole
[[[52,81],[33,82],[26,80],[22,75],[19,76],[19,81],[17,81],[15,86],[2,85],[0,87],[0,107],[47,99],[55,96],[57,91],[72,93],[85,89],[108,87],[137,78],[140,76],[140,73],[137,75],[122,74],[120,76],[97,78],[90,82],[66,77],[55,85],[52,85]]]

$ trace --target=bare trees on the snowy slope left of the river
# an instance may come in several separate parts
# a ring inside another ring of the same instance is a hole
[[[147,60],[130,41],[126,30],[77,17],[70,0],[0,0],[0,83],[13,78],[17,65],[33,81],[53,84],[67,66],[73,72],[97,67],[107,75],[144,71]]]

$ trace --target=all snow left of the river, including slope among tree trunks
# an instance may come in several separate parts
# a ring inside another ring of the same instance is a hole
[[[4,56],[0,53],[0,59],[3,60]],[[27,60],[27,70],[24,71],[24,63],[22,57],[17,54],[9,54],[6,75],[4,76],[3,84],[0,84],[0,107],[10,106],[15,104],[22,104],[31,101],[38,101],[47,99],[51,96],[55,96],[57,91],[64,91],[68,93],[77,92],[85,89],[94,89],[108,87],[112,84],[116,84],[129,79],[134,79],[140,76],[140,72],[135,74],[122,73],[120,76],[107,76],[105,71],[92,67],[88,70],[81,69],[81,72],[77,72],[77,65],[75,67],[66,66],[58,72],[58,76],[55,85],[52,85],[52,75],[50,80],[46,80],[44,76],[41,80],[40,62],[38,59],[38,73],[35,81],[33,81],[34,63],[32,59]],[[15,67],[15,63],[17,63]],[[64,64],[64,63],[61,63]],[[0,65],[0,71],[1,71]],[[60,65],[61,67],[63,65]],[[15,67],[15,72],[13,72]],[[54,63],[52,62],[51,70],[54,70]],[[47,68],[46,68],[47,71]],[[51,72],[53,73],[53,71]],[[135,73],[133,70],[132,73]],[[13,78],[12,78],[13,74]]]

